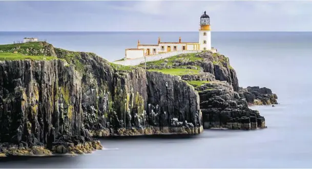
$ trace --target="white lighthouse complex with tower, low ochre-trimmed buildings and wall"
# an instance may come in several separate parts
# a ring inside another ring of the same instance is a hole
[[[191,53],[191,51],[209,50],[217,52],[211,47],[211,28],[210,17],[206,14],[200,16],[199,24],[199,40],[198,42],[184,42],[181,37],[177,42],[163,42],[158,38],[158,43],[155,45],[140,44],[138,40],[137,48],[126,49],[126,59],[136,59],[143,57],[151,57],[164,53]],[[190,51],[190,52],[187,52]]]

